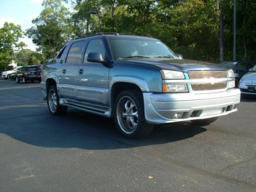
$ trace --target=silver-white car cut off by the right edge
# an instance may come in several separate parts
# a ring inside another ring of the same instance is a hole
[[[242,94],[256,95],[256,65],[240,79],[239,89]]]

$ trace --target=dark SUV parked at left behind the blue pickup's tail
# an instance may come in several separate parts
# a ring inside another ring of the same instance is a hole
[[[23,83],[27,81],[33,82],[34,80],[41,82],[41,66],[23,66],[17,70],[15,79],[17,83],[19,83],[20,80]]]

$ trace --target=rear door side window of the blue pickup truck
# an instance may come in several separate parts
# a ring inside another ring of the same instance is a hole
[[[82,49],[84,46],[84,41],[74,42],[69,50],[66,62],[78,63],[82,57]]]

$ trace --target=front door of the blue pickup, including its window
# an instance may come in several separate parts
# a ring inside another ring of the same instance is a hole
[[[77,99],[108,105],[109,68],[103,63],[89,62],[89,53],[101,53],[106,58],[105,45],[100,38],[88,42],[82,63],[77,73]]]

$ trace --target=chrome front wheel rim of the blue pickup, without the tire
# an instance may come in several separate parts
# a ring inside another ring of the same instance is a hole
[[[117,103],[117,120],[120,128],[127,134],[133,133],[138,125],[138,110],[134,100],[122,97]]]

